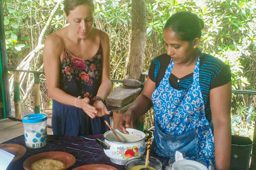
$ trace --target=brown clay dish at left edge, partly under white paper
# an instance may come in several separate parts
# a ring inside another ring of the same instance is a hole
[[[24,156],[24,154],[27,151],[25,147],[18,144],[12,144],[12,143],[1,144],[0,149],[15,155],[14,158],[12,159],[12,162],[20,159],[22,156]]]

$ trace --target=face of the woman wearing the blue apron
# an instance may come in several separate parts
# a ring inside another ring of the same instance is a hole
[[[172,28],[164,30],[164,42],[167,55],[170,55],[175,64],[187,63],[193,60],[193,52],[195,52],[194,44],[179,39],[176,32]]]

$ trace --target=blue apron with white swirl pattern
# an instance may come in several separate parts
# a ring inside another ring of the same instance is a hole
[[[173,61],[151,97],[154,104],[155,132],[153,151],[162,157],[175,158],[180,151],[185,159],[214,159],[214,138],[211,125],[205,117],[204,100],[199,85],[199,59],[193,83],[186,90],[171,87],[169,77]]]

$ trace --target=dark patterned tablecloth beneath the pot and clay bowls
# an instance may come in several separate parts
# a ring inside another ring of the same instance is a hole
[[[102,134],[78,137],[59,137],[56,135],[47,135],[47,145],[45,147],[38,149],[26,148],[26,154],[21,159],[11,163],[7,170],[21,170],[23,169],[23,162],[28,157],[48,151],[63,151],[73,155],[76,158],[76,163],[69,169],[73,169],[75,167],[86,164],[106,164],[116,167],[119,170],[125,170],[124,166],[110,162],[110,159],[105,155],[103,148],[101,148],[101,146],[99,146],[95,141],[97,138],[102,140],[104,139]],[[20,135],[19,137],[5,141],[3,143],[15,143],[26,147],[24,135]],[[167,159],[159,158],[151,154],[150,156],[159,159],[163,164],[163,169],[165,169],[165,166],[168,165]]]

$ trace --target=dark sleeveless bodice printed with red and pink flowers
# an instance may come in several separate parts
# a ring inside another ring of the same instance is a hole
[[[88,60],[78,58],[63,48],[60,66],[60,89],[81,98],[97,95],[102,76],[101,46],[95,56]]]

